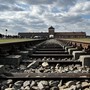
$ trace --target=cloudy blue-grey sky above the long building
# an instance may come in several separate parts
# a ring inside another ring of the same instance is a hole
[[[0,33],[86,32],[90,35],[90,0],[0,0]]]

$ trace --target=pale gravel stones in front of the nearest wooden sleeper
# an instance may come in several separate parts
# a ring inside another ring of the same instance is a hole
[[[0,81],[1,90],[90,90],[89,80],[17,80]]]

